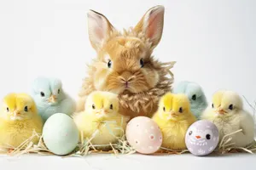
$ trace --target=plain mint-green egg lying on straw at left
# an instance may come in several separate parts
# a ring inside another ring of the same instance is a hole
[[[79,129],[70,116],[56,113],[45,122],[43,139],[46,147],[55,155],[67,155],[79,143]]]

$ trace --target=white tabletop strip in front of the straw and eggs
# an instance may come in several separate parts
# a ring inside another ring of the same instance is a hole
[[[160,169],[255,169],[255,155],[232,154],[226,156],[198,157],[189,154],[177,156],[112,156],[91,155],[83,158],[58,156],[0,157],[4,170],[21,167],[26,170],[78,169],[78,170],[160,170]]]

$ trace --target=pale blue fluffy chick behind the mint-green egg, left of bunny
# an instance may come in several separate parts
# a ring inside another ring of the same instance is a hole
[[[44,122],[55,113],[70,116],[75,111],[75,102],[65,94],[61,80],[56,78],[38,77],[32,83],[32,97]]]

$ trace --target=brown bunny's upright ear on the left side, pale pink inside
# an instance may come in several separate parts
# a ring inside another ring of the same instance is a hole
[[[114,28],[103,14],[97,13],[96,11],[90,10],[87,13],[87,18],[90,43],[98,51],[102,48],[105,38],[108,37]]]

